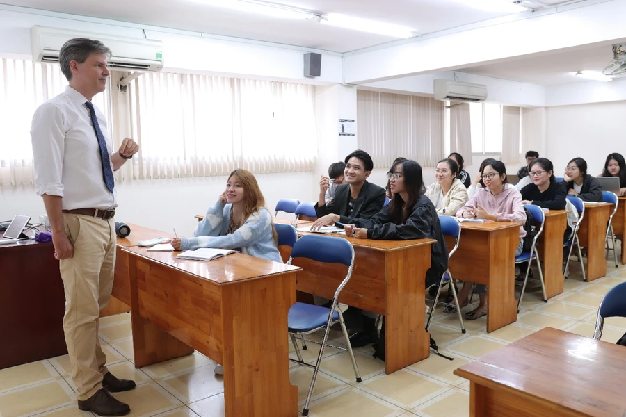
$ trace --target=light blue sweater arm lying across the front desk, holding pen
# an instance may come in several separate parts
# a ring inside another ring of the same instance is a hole
[[[234,233],[225,236],[199,236],[190,239],[181,239],[181,250],[194,250],[199,247],[219,249],[236,249],[255,245],[264,237],[268,228],[272,227],[271,215],[268,212],[255,213]]]

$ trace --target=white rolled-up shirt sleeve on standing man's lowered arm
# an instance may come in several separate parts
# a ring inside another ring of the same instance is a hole
[[[44,104],[35,111],[31,125],[37,195],[63,197],[65,120],[61,109]]]

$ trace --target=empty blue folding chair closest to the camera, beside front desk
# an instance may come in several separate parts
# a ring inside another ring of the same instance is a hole
[[[310,368],[314,368],[313,378],[311,379],[311,386],[309,387],[309,393],[307,394],[307,401],[305,402],[305,406],[302,411],[302,415],[307,416],[309,414],[309,404],[313,395],[315,381],[317,379],[317,374],[319,373],[319,366],[321,364],[322,356],[324,354],[324,348],[326,346],[334,347],[335,349],[339,350],[344,350],[350,354],[350,359],[352,360],[352,366],[354,368],[356,381],[361,382],[361,375],[359,373],[359,368],[354,358],[352,346],[350,345],[350,338],[348,338],[348,331],[346,330],[346,325],[344,323],[344,316],[342,315],[342,311],[339,310],[339,307],[337,306],[337,298],[339,298],[339,293],[341,293],[342,289],[344,289],[344,286],[348,284],[348,281],[350,281],[350,277],[352,275],[352,270],[354,268],[354,249],[352,247],[352,244],[348,242],[348,240],[343,238],[305,235],[296,241],[294,249],[291,251],[291,258],[289,258],[288,264],[291,265],[292,263],[294,263],[294,259],[297,260],[298,258],[306,258],[320,263],[339,263],[348,267],[346,277],[341,282],[341,284],[339,284],[337,290],[335,291],[335,295],[332,297],[332,306],[330,307],[330,309],[323,306],[303,304],[300,302],[296,302],[296,304],[291,306],[291,309],[289,309],[289,337],[291,337],[291,343],[294,344],[294,347],[296,348],[296,355],[298,356],[297,361],[291,358],[289,358],[289,360],[300,363],[304,366],[309,366]],[[339,347],[327,343],[330,326],[332,326],[336,322],[339,322],[342,327],[342,333],[344,334],[344,338],[346,339],[346,347]],[[307,340],[312,343],[318,343],[319,345],[321,345],[319,349],[319,354],[317,356],[317,361],[313,366],[303,361],[302,355],[300,354],[300,349],[298,348],[298,343],[296,343],[296,338],[303,340],[304,335],[311,334],[319,329],[324,329],[324,336],[321,342]]]

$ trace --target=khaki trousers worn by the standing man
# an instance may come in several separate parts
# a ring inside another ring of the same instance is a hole
[[[74,256],[59,262],[65,287],[63,330],[77,398],[102,388],[106,356],[98,338],[100,309],[111,300],[115,270],[115,223],[88,215],[63,214]]]

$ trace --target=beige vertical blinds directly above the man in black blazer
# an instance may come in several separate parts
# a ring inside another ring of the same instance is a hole
[[[358,147],[374,167],[403,156],[432,167],[443,156],[444,102],[430,97],[358,90]]]

